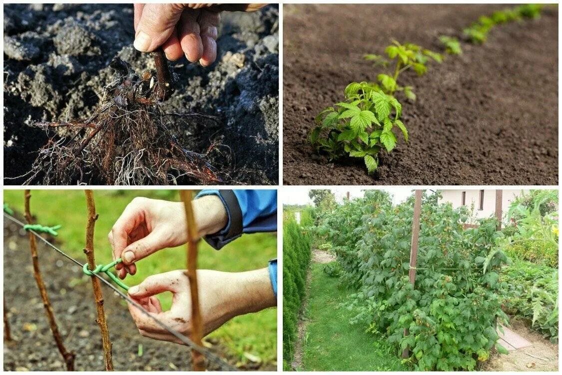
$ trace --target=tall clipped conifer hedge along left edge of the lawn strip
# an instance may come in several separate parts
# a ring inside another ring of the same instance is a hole
[[[302,214],[301,214],[302,215]],[[301,216],[302,219],[302,216]],[[301,222],[302,223],[302,222]],[[290,369],[297,340],[298,313],[306,293],[306,272],[310,263],[310,236],[294,220],[283,222],[283,368]]]

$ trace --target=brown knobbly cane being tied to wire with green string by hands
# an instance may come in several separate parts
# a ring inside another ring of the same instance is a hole
[[[94,227],[98,214],[96,214],[96,202],[94,201],[94,193],[91,190],[85,190],[86,205],[88,207],[88,222],[86,224],[86,248],[84,254],[88,258],[88,268],[90,270],[96,268],[96,257],[94,256]],[[107,320],[103,311],[103,295],[99,279],[92,275],[92,286],[94,289],[94,297],[96,299],[96,310],[98,318],[99,331],[102,335],[103,356],[105,358],[106,371],[113,371],[113,359],[111,354],[111,340],[107,329]]]

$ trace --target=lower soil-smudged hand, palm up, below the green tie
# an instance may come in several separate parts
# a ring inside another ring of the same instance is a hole
[[[203,336],[238,315],[255,313],[277,305],[267,268],[238,273],[198,270],[197,283]],[[155,295],[166,291],[172,292],[174,297],[171,309],[162,311]],[[191,293],[186,271],[149,276],[130,288],[129,296],[166,326],[185,336],[191,333]],[[129,304],[129,312],[140,335],[184,344],[134,305]]]

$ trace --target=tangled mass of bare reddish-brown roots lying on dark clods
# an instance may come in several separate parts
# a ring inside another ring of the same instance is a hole
[[[57,134],[39,150],[24,184],[164,185],[184,176],[195,183],[221,182],[207,161],[216,145],[204,154],[189,151],[170,130],[183,115],[161,110],[169,94],[169,82],[158,81],[161,72],[158,78],[138,76],[119,57],[110,67],[115,80],[88,119],[34,124]],[[166,95],[158,88],[164,84]]]

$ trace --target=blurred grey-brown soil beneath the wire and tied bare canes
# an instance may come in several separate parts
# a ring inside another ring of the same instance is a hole
[[[103,371],[103,350],[96,323],[92,284],[81,269],[38,242],[39,263],[58,328],[68,350],[76,354],[77,371]],[[182,345],[140,336],[121,298],[103,286],[107,324],[113,342],[116,371],[188,371],[191,351]],[[66,369],[47,323],[43,302],[33,278],[26,232],[4,220],[4,307],[15,341],[4,342],[4,371],[64,371]],[[219,342],[211,350],[230,365],[236,359],[225,354]],[[143,354],[138,356],[138,346]],[[218,371],[219,365],[209,364]],[[256,369],[256,368],[244,368]],[[260,370],[275,371],[264,365]]]

